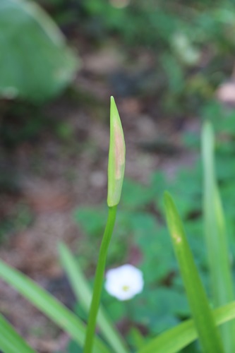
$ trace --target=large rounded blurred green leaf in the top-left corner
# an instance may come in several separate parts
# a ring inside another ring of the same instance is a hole
[[[0,95],[43,102],[73,79],[78,58],[63,35],[32,1],[0,2]]]

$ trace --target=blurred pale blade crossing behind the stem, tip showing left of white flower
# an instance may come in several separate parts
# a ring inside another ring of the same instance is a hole
[[[64,270],[68,275],[68,279],[71,283],[71,287],[73,288],[73,292],[76,294],[78,302],[87,312],[89,312],[92,292],[85,276],[83,275],[83,272],[80,270],[80,266],[73,258],[71,251],[69,251],[68,247],[63,243],[59,244],[59,254]],[[119,335],[119,332],[114,329],[102,306],[100,306],[98,311],[97,325],[99,326],[100,331],[106,338],[107,342],[109,342],[109,345],[112,347],[113,352],[128,352],[123,338]]]

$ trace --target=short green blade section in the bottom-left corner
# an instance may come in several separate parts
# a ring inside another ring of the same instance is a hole
[[[0,314],[0,348],[4,353],[36,353]]]

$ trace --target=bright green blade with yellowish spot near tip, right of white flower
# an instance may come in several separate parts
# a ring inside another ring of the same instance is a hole
[[[173,199],[167,192],[164,193],[164,205],[171,241],[179,263],[188,304],[191,308],[195,327],[198,330],[198,338],[203,347],[203,352],[224,352],[219,332],[215,326],[215,319],[193,260],[193,254],[188,246],[181,218]]]

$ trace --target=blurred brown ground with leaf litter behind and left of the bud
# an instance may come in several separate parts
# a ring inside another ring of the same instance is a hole
[[[44,108],[44,114],[60,124],[8,152],[11,160],[6,168],[16,175],[17,192],[1,193],[0,201],[2,219],[18,217],[1,245],[1,258],[68,306],[73,296],[56,244],[63,240],[76,251],[83,234],[73,222],[73,209],[99,204],[107,197],[109,96],[118,91],[114,73],[128,68],[123,55],[116,55],[112,47],[82,56],[84,66],[75,88]],[[135,65],[150,63],[151,56],[140,54]],[[152,100],[137,100],[131,93],[121,97],[120,90],[115,97],[126,136],[126,177],[147,184],[155,169],[173,175],[180,164],[193,163],[194,156],[183,150],[181,132],[198,133],[197,119],[163,119]],[[64,333],[4,282],[0,290],[1,312],[37,352],[65,349],[68,337]]]

